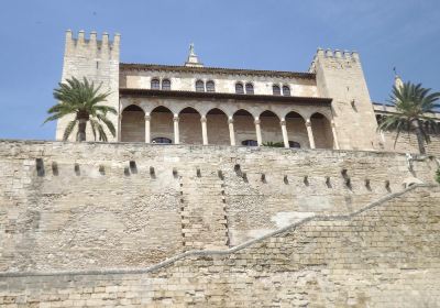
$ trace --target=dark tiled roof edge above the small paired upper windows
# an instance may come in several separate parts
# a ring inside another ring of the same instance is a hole
[[[158,64],[138,64],[120,63],[119,69],[122,70],[162,70],[162,72],[183,72],[197,74],[226,74],[226,75],[250,75],[250,76],[271,76],[283,78],[302,78],[316,79],[314,73],[284,72],[284,70],[261,70],[242,68],[222,68],[222,67],[187,67],[178,65],[158,65]]]

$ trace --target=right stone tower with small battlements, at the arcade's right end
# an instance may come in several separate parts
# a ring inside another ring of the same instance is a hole
[[[333,99],[340,148],[377,148],[377,122],[359,54],[319,48],[309,72],[316,73],[318,96]]]

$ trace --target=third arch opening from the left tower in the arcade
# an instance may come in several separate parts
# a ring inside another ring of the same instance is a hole
[[[200,112],[194,107],[180,109],[179,113],[180,143],[202,144]]]

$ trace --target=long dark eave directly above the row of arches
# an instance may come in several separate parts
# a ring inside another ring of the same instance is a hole
[[[197,92],[197,91],[174,91],[174,90],[151,90],[136,88],[120,88],[121,97],[164,97],[164,98],[202,98],[202,99],[232,99],[232,100],[252,100],[253,102],[306,102],[329,105],[331,98],[320,97],[295,97],[295,96],[266,96],[266,95],[237,95],[224,92]]]

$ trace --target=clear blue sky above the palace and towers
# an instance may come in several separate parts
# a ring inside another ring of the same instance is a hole
[[[393,67],[440,90],[438,0],[4,0],[0,9],[0,139],[53,140],[64,33],[119,32],[121,62],[307,70],[318,46],[358,51],[370,95],[387,99]]]

